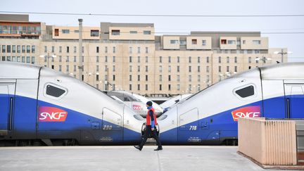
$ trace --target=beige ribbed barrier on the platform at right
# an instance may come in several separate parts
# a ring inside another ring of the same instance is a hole
[[[239,118],[239,152],[262,165],[297,165],[296,122]]]

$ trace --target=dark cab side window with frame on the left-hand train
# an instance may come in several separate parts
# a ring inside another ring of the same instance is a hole
[[[67,89],[56,84],[46,84],[44,87],[44,95],[54,99],[61,99],[67,92]]]

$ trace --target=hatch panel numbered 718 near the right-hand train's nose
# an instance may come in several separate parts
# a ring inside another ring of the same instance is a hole
[[[199,143],[198,109],[194,108],[179,115],[178,141],[180,143]]]

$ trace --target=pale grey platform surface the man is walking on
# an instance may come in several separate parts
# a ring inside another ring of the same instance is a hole
[[[237,146],[0,147],[0,170],[264,170]]]

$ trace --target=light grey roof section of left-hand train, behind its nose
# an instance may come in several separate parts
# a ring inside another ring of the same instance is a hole
[[[17,62],[0,62],[1,79],[38,79],[39,70],[42,68],[38,65]]]

